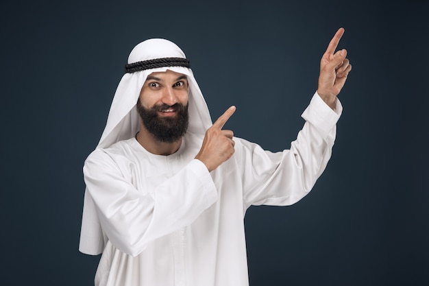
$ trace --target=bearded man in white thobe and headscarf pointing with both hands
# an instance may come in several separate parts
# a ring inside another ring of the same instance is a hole
[[[215,123],[182,50],[163,39],[128,58],[97,149],[84,165],[79,250],[103,253],[95,285],[248,285],[246,209],[289,205],[310,191],[334,144],[351,70],[337,51],[321,59],[319,85],[290,150],[271,153]]]

